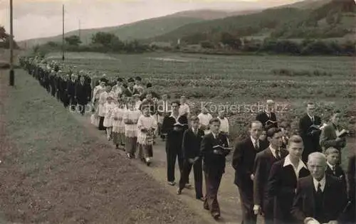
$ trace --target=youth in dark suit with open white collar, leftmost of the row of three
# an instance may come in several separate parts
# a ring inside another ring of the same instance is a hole
[[[162,134],[167,134],[166,154],[167,154],[167,181],[171,186],[174,182],[174,168],[178,157],[179,171],[183,169],[183,134],[188,129],[188,119],[186,116],[179,116],[179,101],[171,103],[172,113],[165,116],[162,123]]]

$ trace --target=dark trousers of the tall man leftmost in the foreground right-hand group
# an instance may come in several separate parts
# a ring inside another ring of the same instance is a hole
[[[257,215],[253,213],[253,189],[239,188],[240,193],[240,202],[241,202],[241,210],[242,210],[242,222],[241,224],[256,224],[257,223]]]

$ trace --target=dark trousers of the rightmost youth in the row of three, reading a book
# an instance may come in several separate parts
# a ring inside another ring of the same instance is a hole
[[[220,214],[220,206],[218,202],[218,191],[221,183],[221,173],[206,173],[204,172],[206,195],[204,208],[210,210],[211,215]]]

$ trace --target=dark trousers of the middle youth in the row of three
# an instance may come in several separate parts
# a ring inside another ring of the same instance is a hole
[[[190,164],[187,159],[184,159],[182,174],[179,180],[179,188],[183,189],[185,184],[189,182],[190,171],[194,172],[194,187],[195,187],[195,197],[203,197],[203,169],[201,159],[195,161],[194,164]]]

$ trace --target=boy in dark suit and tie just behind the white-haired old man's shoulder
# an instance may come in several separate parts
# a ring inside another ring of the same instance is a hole
[[[339,165],[340,152],[337,149],[330,147],[329,149],[326,149],[325,156],[326,163],[328,164],[325,173],[330,176],[335,176],[338,180],[342,182],[342,185],[345,186],[346,189],[345,172]]]

